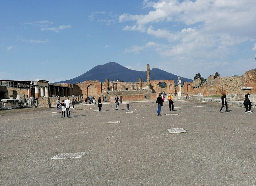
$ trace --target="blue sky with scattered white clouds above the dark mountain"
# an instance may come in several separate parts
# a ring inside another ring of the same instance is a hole
[[[255,10],[255,0],[2,0],[0,79],[56,82],[108,62],[242,75],[256,68]]]

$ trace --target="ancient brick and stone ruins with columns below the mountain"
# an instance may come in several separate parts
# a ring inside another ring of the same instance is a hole
[[[21,106],[52,107],[56,100],[77,99],[80,103],[91,95],[106,97],[113,101],[118,95],[120,101],[155,100],[159,93],[173,93],[176,96],[210,96],[220,95],[225,92],[229,100],[243,100],[246,91],[249,91],[252,101],[256,102],[256,69],[246,71],[242,76],[218,77],[210,75],[207,82],[201,83],[201,79],[193,82],[185,82],[179,77],[178,86],[174,80],[151,80],[150,66],[147,64],[147,81],[138,78],[138,82],[86,80],[77,84],[61,83],[49,84],[47,80],[35,81],[0,80],[0,108],[18,108]],[[162,85],[166,86],[162,86]],[[178,94],[177,94],[178,93]],[[10,99],[9,99],[10,97]],[[20,104],[22,103],[22,104]],[[24,104],[25,103],[25,104]]]

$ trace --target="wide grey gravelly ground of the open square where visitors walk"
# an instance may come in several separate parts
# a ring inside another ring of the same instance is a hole
[[[0,185],[256,185],[254,109],[180,99],[157,116],[155,100],[130,103],[134,113],[110,105],[76,104],[71,118],[0,111]]]

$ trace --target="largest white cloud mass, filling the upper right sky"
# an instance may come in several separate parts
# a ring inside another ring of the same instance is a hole
[[[143,8],[151,11],[145,15],[124,13],[119,22],[131,22],[124,31],[166,39],[168,44],[154,48],[163,57],[225,58],[236,53],[238,45],[256,39],[256,11],[252,7],[256,7],[254,0],[144,0]],[[168,24],[168,29],[156,23]],[[181,27],[178,31],[177,25]],[[146,49],[146,45],[134,45],[126,52]]]

